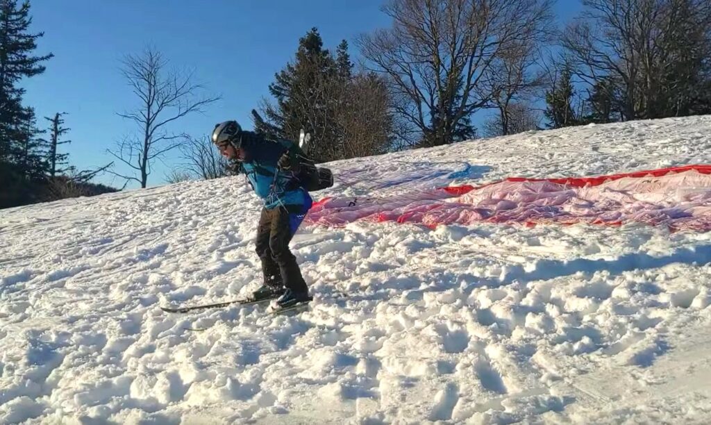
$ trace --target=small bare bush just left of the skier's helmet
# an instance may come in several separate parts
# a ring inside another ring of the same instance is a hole
[[[209,137],[186,137],[180,151],[186,161],[182,168],[188,174],[205,180],[228,175],[229,162],[215,149]]]

